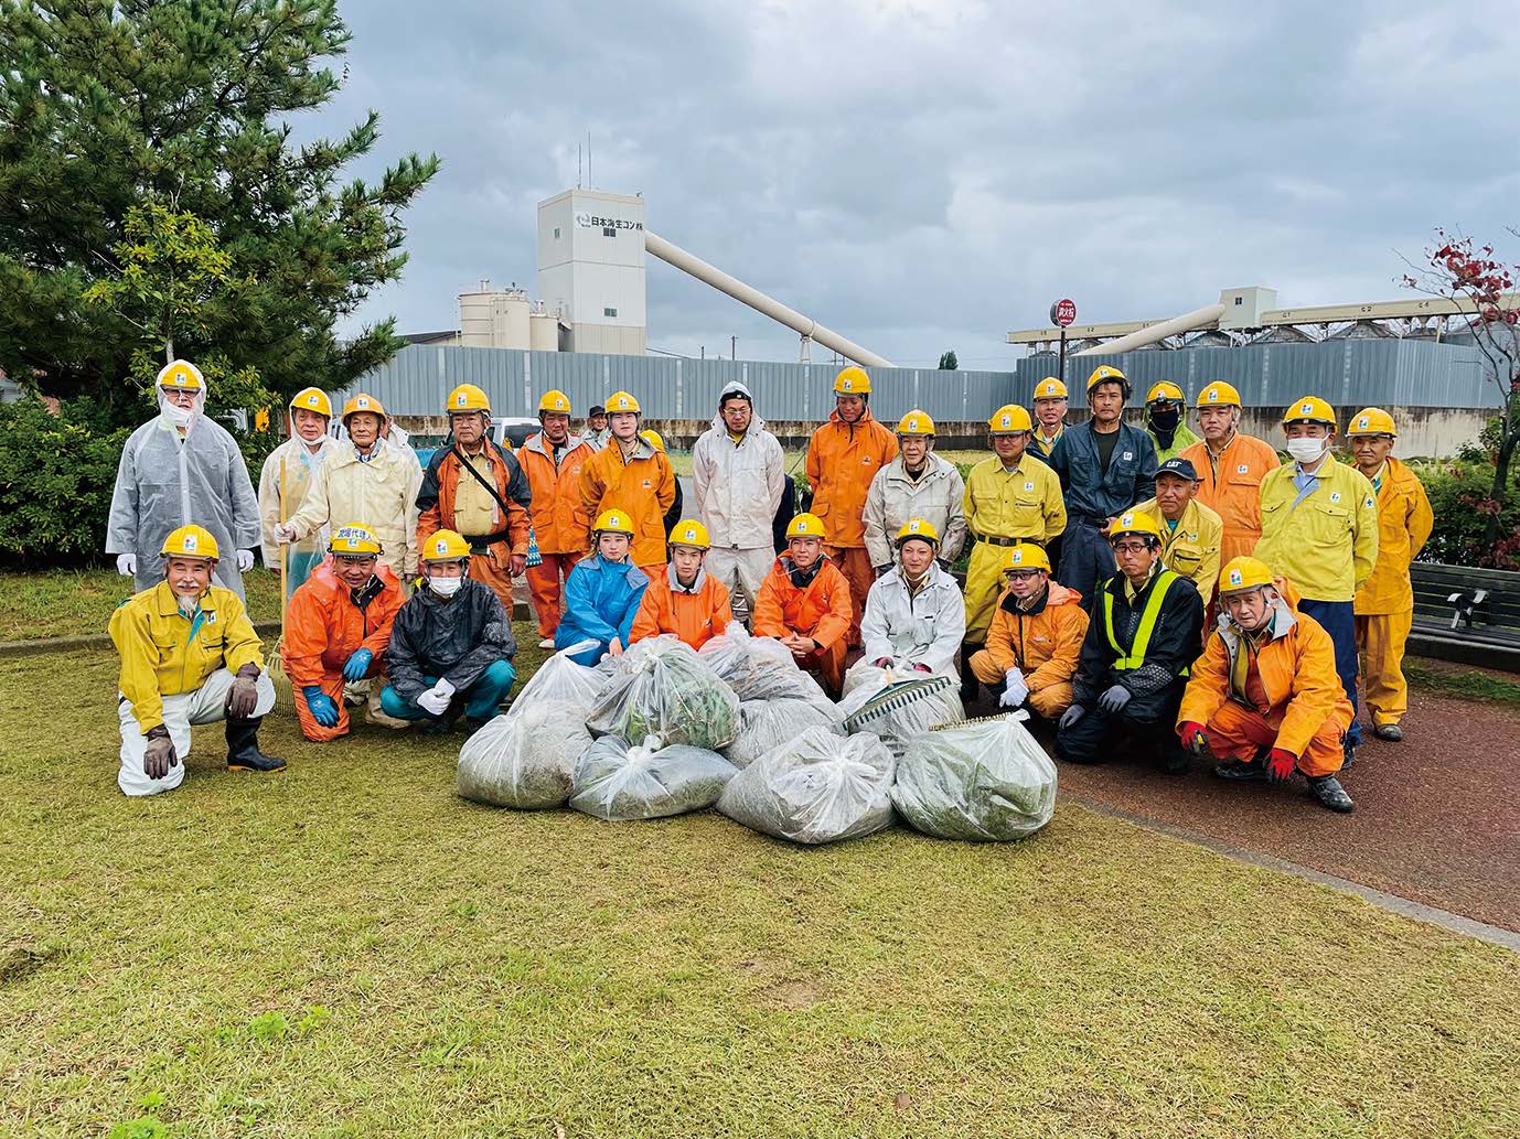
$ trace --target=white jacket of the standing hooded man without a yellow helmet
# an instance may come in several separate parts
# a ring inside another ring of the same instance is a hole
[[[724,390],[749,395],[743,384]],[[713,416],[711,428],[692,448],[692,509],[707,527],[713,548],[772,550],[771,524],[786,478],[781,443],[765,430],[765,419],[752,416],[745,437],[736,443],[724,418]]]

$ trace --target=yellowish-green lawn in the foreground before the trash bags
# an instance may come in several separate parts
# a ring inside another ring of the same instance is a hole
[[[1520,1133],[1520,957],[1072,805],[796,849],[289,720],[129,802],[112,693],[0,659],[0,1131]]]

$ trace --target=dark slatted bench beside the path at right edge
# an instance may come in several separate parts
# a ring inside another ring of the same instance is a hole
[[[1520,573],[1415,562],[1409,652],[1520,673]]]

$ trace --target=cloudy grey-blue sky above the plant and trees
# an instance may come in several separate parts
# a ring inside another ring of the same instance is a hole
[[[1246,284],[1389,299],[1432,226],[1520,223],[1512,0],[1202,8],[348,0],[348,84],[299,128],[375,108],[356,173],[442,158],[362,313],[401,331],[458,327],[480,278],[537,296],[535,207],[588,132],[651,229],[900,364],[1008,366],[1056,296],[1084,322]],[[796,358],[652,258],[648,289],[654,348]]]

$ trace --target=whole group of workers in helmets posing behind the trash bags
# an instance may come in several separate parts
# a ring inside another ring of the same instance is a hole
[[[1066,384],[1043,380],[1032,415],[993,413],[990,454],[962,478],[930,416],[889,430],[850,366],[807,446],[810,503],[777,541],[790,478],[740,383],[695,443],[687,503],[629,392],[584,434],[546,392],[541,430],[512,450],[491,437],[486,393],[461,384],[423,469],[378,399],[353,396],[339,437],[307,389],[257,498],[204,416],[204,377],[176,361],[158,393],[123,453],[106,547],[141,591],[111,626],[129,794],[176,785],[190,724],[222,715],[231,767],[280,765],[255,738],[274,697],[240,600],[255,545],[289,583],[281,659],[313,741],[345,734],[363,699],[392,724],[491,718],[515,680],[523,577],[541,647],[585,664],[664,633],[701,647],[737,614],[836,696],[859,650],[897,674],[959,676],[968,703],[1028,709],[1059,759],[1128,743],[1167,771],[1190,756],[1228,779],[1298,771],[1336,811],[1353,806],[1338,775],[1360,738],[1359,671],[1374,732],[1401,735],[1409,562],[1432,516],[1380,409],[1351,418],[1345,465],[1335,410],[1306,396],[1283,415],[1281,465],[1240,433],[1230,384],[1199,395],[1198,437],[1164,381],[1142,425],[1125,422],[1129,381],[1105,364],[1085,422],[1069,427]]]

